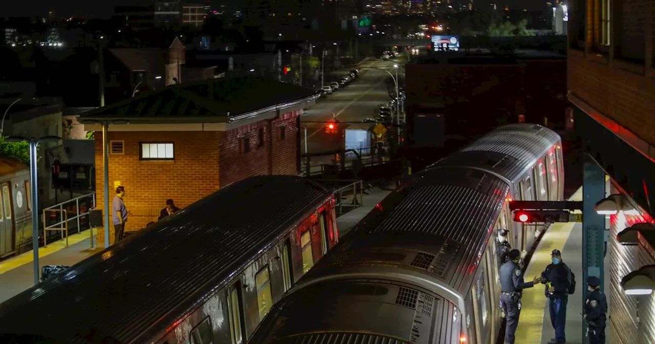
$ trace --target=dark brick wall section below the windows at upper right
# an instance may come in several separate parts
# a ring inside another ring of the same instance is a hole
[[[655,80],[652,71],[631,62],[610,61],[595,54],[584,56],[569,49],[569,92],[603,115],[655,144]],[[651,68],[647,68],[651,69]]]

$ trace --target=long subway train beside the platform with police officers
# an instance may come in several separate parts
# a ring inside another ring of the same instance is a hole
[[[495,343],[496,229],[529,248],[508,203],[563,197],[561,139],[496,128],[405,180],[282,300],[249,343]],[[234,342],[233,342],[234,343]]]

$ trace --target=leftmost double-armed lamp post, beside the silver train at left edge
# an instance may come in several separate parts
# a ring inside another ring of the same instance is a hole
[[[24,138],[10,136],[7,142],[29,143],[29,191],[32,200],[32,255],[34,265],[34,284],[39,283],[39,185],[37,185],[37,146],[39,142],[58,142],[59,136],[43,136],[42,138]],[[45,223],[43,224],[45,226]],[[43,231],[45,237],[45,230]]]

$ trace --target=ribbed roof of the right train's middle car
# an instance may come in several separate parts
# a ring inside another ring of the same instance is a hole
[[[439,267],[432,270],[435,277],[455,290],[466,289],[469,269],[479,263],[508,192],[507,183],[481,170],[451,167],[419,172],[352,229],[353,243],[343,248],[348,258],[339,254],[342,247],[337,246],[307,277],[329,275],[344,261],[360,261],[354,252],[365,255],[371,247],[393,246],[424,252]],[[419,267],[411,261],[407,265]]]

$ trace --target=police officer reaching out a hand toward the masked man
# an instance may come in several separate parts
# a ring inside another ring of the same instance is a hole
[[[514,334],[516,326],[519,324],[519,315],[521,314],[521,296],[523,289],[532,288],[535,283],[541,281],[541,278],[534,277],[532,282],[523,280],[523,272],[519,267],[521,252],[511,250],[508,253],[510,259],[500,267],[500,305],[505,313],[505,343],[514,344]]]

